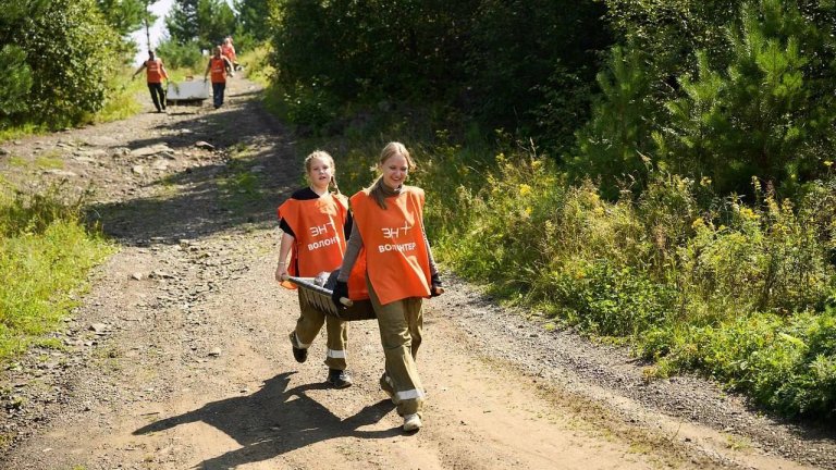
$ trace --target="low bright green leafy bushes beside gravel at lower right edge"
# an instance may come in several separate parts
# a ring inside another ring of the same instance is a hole
[[[786,416],[836,417],[836,313],[755,313],[718,325],[648,334],[643,352],[667,337],[663,373],[702,370]]]

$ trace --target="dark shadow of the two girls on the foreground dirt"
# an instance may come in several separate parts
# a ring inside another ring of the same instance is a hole
[[[143,426],[133,434],[160,432],[200,421],[224,432],[243,446],[196,466],[202,469],[237,468],[335,437],[386,438],[402,434],[399,426],[383,431],[360,430],[392,411],[394,405],[390,400],[367,406],[357,415],[341,420],[306,395],[308,391],[323,389],[328,385],[306,384],[287,389],[293,373],[282,373],[266,381],[265,386],[253,395],[212,401],[199,409]]]

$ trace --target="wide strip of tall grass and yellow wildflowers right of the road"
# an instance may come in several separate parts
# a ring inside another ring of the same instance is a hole
[[[458,145],[431,131],[432,116],[406,121],[302,140],[300,157],[331,151],[352,194],[385,141],[404,141],[446,268],[629,345],[654,362],[650,375],[696,371],[785,416],[836,417],[836,181],[797,201],[753,181],[745,200],[714,194],[708,178],[654,174],[641,196],[612,201],[502,133]]]

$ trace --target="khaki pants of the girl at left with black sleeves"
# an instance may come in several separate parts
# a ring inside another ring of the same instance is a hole
[[[322,313],[314,308],[299,293],[299,319],[296,321],[296,347],[307,349],[325,324],[328,333],[325,366],[329,369],[345,370],[345,347],[348,344],[348,322]]]

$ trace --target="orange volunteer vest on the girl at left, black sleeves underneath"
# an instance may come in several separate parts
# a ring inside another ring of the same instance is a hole
[[[290,275],[315,277],[323,271],[331,272],[340,268],[346,248],[343,227],[348,217],[348,201],[345,196],[287,199],[276,209],[276,214],[291,226],[295,237],[287,267]],[[358,258],[365,260],[365,257]],[[290,282],[283,282],[282,285],[296,288]],[[355,263],[348,276],[348,298],[369,298],[365,261]]]

